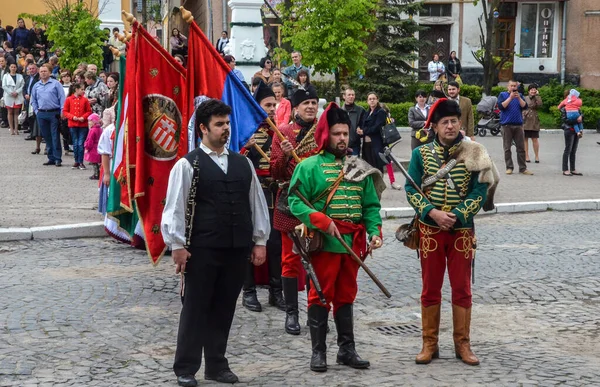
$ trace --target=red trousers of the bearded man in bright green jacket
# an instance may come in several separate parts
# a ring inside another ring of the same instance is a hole
[[[311,281],[310,293],[308,294],[309,307],[311,305],[321,305],[330,310],[331,304],[333,304],[333,315],[335,316],[340,306],[354,303],[358,292],[356,277],[359,266],[349,254],[321,251],[313,255],[312,264],[327,305],[321,303]]]

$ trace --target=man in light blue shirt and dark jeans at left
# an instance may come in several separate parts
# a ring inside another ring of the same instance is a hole
[[[56,79],[51,78],[52,66],[46,63],[40,67],[40,81],[33,86],[31,106],[46,140],[48,161],[44,165],[62,166],[59,119],[65,104],[65,92]]]

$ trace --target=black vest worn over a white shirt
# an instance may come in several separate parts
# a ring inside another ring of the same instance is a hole
[[[227,174],[202,149],[185,158],[194,164],[198,156],[195,213],[191,248],[230,249],[252,245],[250,209],[252,169],[246,157],[229,151]]]

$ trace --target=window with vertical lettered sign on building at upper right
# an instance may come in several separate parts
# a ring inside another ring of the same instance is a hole
[[[554,41],[554,4],[523,4],[521,44],[523,58],[551,58]]]

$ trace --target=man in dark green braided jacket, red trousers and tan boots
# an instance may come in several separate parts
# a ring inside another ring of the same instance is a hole
[[[498,171],[483,145],[462,141],[460,116],[459,106],[445,98],[431,107],[425,127],[431,123],[435,139],[413,150],[408,169],[416,185],[423,187],[425,197],[408,180],[405,185],[408,202],[417,212],[423,271],[423,349],[417,355],[417,364],[428,364],[439,357],[446,266],[452,288],[456,357],[470,365],[479,364],[471,351],[469,335],[473,217],[482,206],[484,210],[494,208]]]

